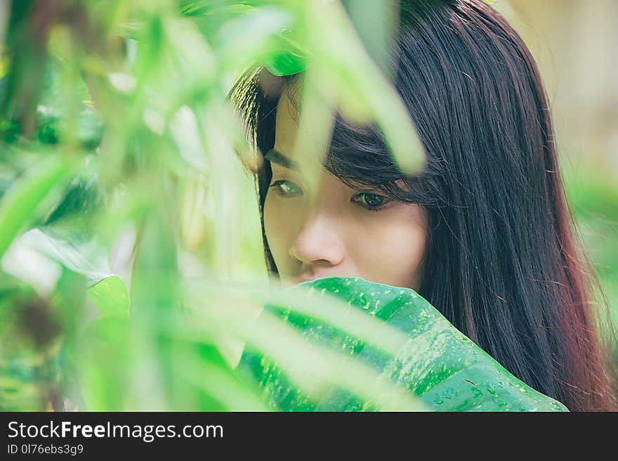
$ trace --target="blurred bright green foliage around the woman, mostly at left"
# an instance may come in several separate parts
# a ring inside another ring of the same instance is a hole
[[[289,330],[252,329],[270,295],[242,165],[256,152],[225,96],[255,63],[307,69],[305,97],[324,104],[306,105],[301,133],[327,142],[339,106],[414,170],[414,126],[376,65],[393,2],[361,3],[2,4],[0,410],[265,409],[234,365],[248,341],[284,351]],[[614,242],[616,197],[594,178],[573,195]],[[617,245],[587,242],[617,309]]]

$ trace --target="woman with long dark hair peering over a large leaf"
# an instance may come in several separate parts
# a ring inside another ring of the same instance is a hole
[[[312,190],[290,159],[300,75],[280,79],[276,96],[261,88],[264,70],[232,89],[265,152],[257,183],[270,272],[411,287],[534,389],[570,410],[614,409],[593,279],[530,52],[481,0],[404,1],[400,14],[393,83],[427,157],[413,177],[375,126],[338,116]]]

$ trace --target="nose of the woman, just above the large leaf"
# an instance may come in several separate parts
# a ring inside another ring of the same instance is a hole
[[[345,248],[334,218],[327,213],[308,216],[289,249],[291,257],[307,266],[341,264]]]

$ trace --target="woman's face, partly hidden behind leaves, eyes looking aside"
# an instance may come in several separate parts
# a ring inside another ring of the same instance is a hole
[[[275,146],[266,155],[272,178],[264,227],[282,282],[350,276],[418,290],[427,239],[425,209],[350,188],[319,165],[319,187],[312,186],[316,182],[309,181],[308,170],[291,160],[295,111],[284,91]]]

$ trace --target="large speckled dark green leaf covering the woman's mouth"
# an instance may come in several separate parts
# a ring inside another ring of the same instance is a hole
[[[285,290],[286,303],[273,299],[265,310],[298,328],[306,339],[327,344],[355,360],[372,365],[381,378],[407,389],[435,411],[567,411],[564,405],[545,396],[511,375],[489,354],[457,330],[442,314],[413,290],[370,283],[360,278],[322,278]],[[387,352],[379,344],[361,340],[314,316],[294,311],[289,298],[327,301],[336,297],[368,318],[382,320],[386,327],[405,333],[399,348]],[[299,358],[301,361],[301,358]],[[301,366],[299,364],[299,366]],[[251,347],[243,352],[240,368],[248,370],[263,390],[270,406],[284,411],[379,410],[373,401],[362,401],[334,385],[313,400],[291,383],[285,370]],[[379,400],[376,398],[376,401]]]

